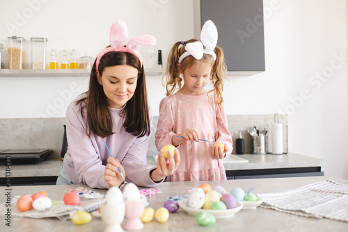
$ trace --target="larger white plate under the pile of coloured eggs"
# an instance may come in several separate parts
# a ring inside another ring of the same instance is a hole
[[[238,213],[242,208],[243,205],[237,202],[237,206],[235,208],[230,208],[227,210],[205,210],[203,208],[189,208],[187,206],[187,198],[184,197],[181,201],[178,201],[177,204],[179,204],[180,208],[185,210],[190,215],[196,216],[199,212],[207,212],[214,215],[215,218],[226,218],[226,217],[233,217],[236,213]]]

